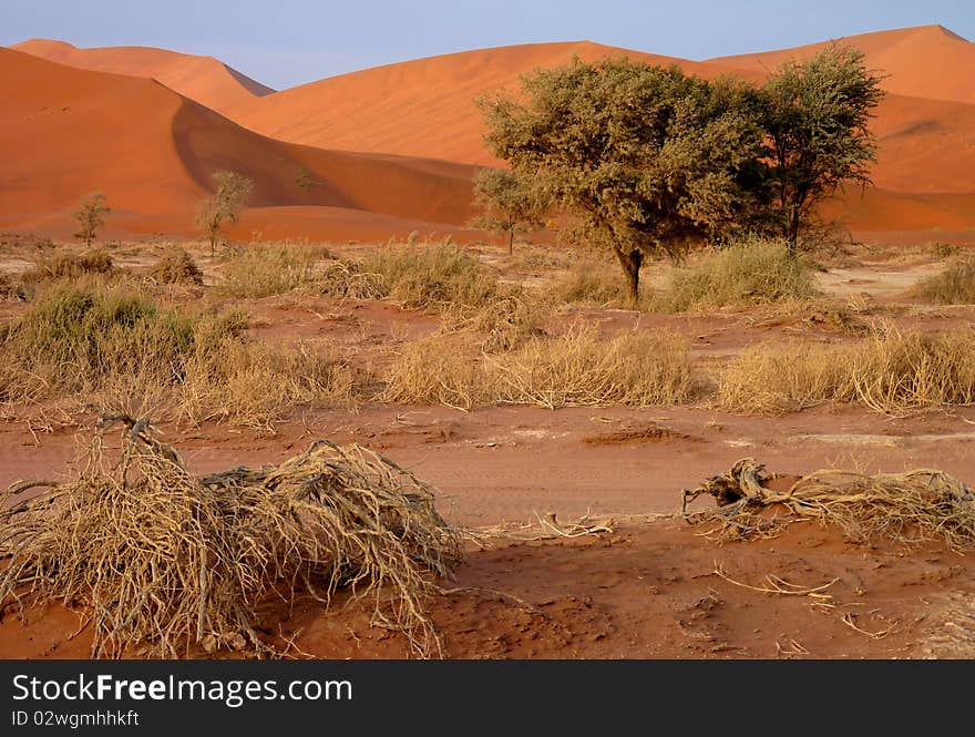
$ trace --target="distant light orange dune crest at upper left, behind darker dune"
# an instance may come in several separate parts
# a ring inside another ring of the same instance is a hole
[[[271,88],[245,76],[213,57],[195,57],[147,47],[79,49],[64,41],[49,39],[31,39],[11,48],[94,72],[148,76],[224,115],[254,98],[274,92]]]

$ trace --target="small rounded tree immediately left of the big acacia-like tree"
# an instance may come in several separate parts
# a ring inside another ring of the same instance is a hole
[[[474,176],[474,203],[481,214],[470,225],[507,235],[507,255],[514,253],[514,234],[544,225],[544,203],[523,180],[503,168],[482,168]]]

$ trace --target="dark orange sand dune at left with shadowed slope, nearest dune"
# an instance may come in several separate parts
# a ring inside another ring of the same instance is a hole
[[[260,231],[281,206],[306,208],[318,237],[330,219],[347,233],[370,213],[388,227],[407,221],[396,231],[417,223],[438,229],[470,216],[469,166],[281,143],[152,80],[0,49],[0,89],[2,227],[63,232],[68,208],[102,190],[116,208],[116,226],[185,233],[209,174],[220,168],[256,181],[248,204],[260,209],[247,222]],[[297,185],[301,170],[314,182],[309,191]],[[345,209],[356,213],[337,217]]]

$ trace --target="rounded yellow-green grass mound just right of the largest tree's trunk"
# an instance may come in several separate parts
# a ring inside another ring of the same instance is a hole
[[[746,307],[809,299],[815,294],[809,268],[784,242],[750,239],[702,254],[674,269],[654,306],[666,311]]]

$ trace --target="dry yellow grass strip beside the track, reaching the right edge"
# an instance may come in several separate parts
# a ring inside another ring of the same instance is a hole
[[[843,344],[762,344],[735,358],[721,376],[725,409],[781,413],[814,405],[855,402],[902,413],[975,403],[972,334],[926,335],[884,327]]]

